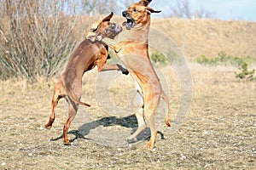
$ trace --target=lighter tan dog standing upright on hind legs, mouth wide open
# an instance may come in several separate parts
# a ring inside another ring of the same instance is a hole
[[[166,101],[168,112],[166,114],[166,125],[171,126],[169,122],[170,106],[169,99],[161,88],[160,79],[157,76],[148,55],[148,31],[150,26],[150,14],[160,13],[148,4],[151,0],[141,0],[139,3],[133,3],[123,12],[127,19],[124,22],[126,31],[119,34],[118,39],[113,42],[103,39],[110,48],[113,48],[119,58],[123,61],[126,68],[133,77],[137,85],[137,94],[132,101],[136,108],[138,127],[137,131],[128,138],[136,139],[147,126],[150,127],[151,137],[148,142],[148,148],[154,148],[154,140],[157,135],[154,117],[160,104],[160,98]],[[145,122],[146,121],[146,122]]]

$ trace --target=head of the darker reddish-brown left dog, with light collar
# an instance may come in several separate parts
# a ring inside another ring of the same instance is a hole
[[[121,31],[122,27],[110,22],[113,13],[109,14],[103,20],[94,23],[90,27],[90,31],[85,33],[85,37],[90,41],[102,41],[104,37],[114,39]]]

